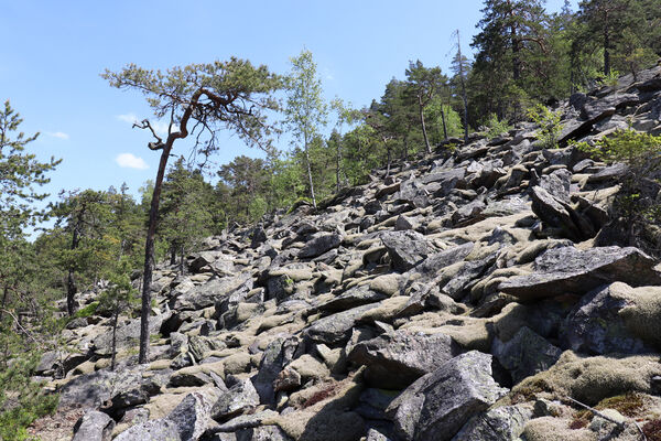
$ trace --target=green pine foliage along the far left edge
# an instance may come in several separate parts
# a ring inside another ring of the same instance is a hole
[[[40,162],[26,148],[37,135],[19,131],[22,122],[9,101],[0,109],[0,439],[24,440],[25,428],[53,410],[56,396],[45,396],[32,381],[44,336],[58,332],[43,288],[41,262],[25,240],[25,228],[45,216],[34,207],[46,194],[37,187],[59,161]],[[19,321],[19,313],[23,316]]]

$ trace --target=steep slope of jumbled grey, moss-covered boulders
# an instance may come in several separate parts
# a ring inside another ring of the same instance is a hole
[[[563,142],[628,120],[659,135],[661,67],[560,108]],[[317,211],[209,238],[185,276],[155,271],[151,363],[136,363],[139,319],[121,320],[116,372],[110,320],[69,323],[67,345],[39,369],[61,392],[50,418],[67,429],[34,432],[659,440],[658,262],[597,246],[622,173],[571,147],[545,150],[523,123],[375,171]]]

